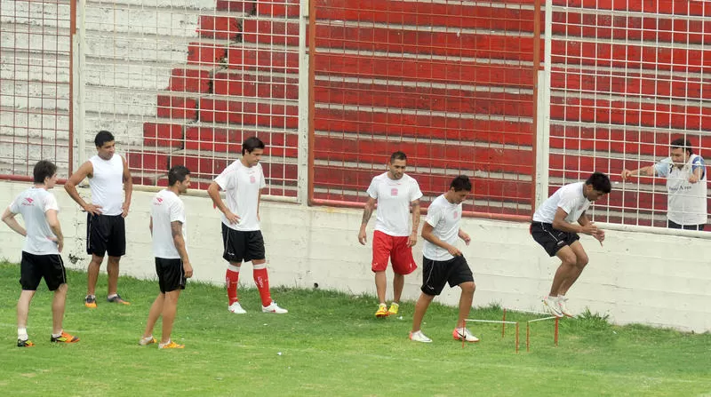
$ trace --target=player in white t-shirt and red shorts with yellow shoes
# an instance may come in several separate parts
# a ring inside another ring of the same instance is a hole
[[[375,290],[378,293],[379,306],[376,317],[395,315],[400,307],[405,275],[417,269],[412,258],[412,246],[417,243],[419,226],[419,191],[417,180],[405,174],[407,156],[403,152],[390,155],[388,171],[378,175],[368,187],[368,201],[363,209],[363,222],[358,233],[358,241],[365,245],[365,226],[371,218],[375,203],[378,202],[378,215],[375,220],[375,232],[372,236],[371,269],[375,273]],[[390,308],[385,303],[387,279],[385,269],[387,260],[393,264],[393,302]]]

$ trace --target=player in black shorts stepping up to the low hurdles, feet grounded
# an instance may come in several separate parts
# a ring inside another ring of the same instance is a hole
[[[459,286],[459,319],[451,332],[456,340],[478,342],[479,338],[467,330],[465,320],[472,308],[474,300],[474,275],[467,264],[461,251],[455,246],[461,239],[467,245],[471,241],[469,234],[465,233],[461,224],[461,203],[472,190],[472,183],[461,175],[452,179],[450,189],[437,197],[427,208],[427,218],[422,225],[422,238],[425,246],[422,249],[422,293],[415,305],[415,314],[412,316],[412,330],[410,339],[416,342],[432,342],[420,330],[422,319],[425,317],[427,307],[439,295],[444,284],[450,287]]]

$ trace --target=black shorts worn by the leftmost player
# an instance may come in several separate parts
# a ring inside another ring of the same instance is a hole
[[[44,282],[49,290],[57,290],[67,283],[67,272],[60,255],[34,255],[22,251],[20,262],[20,285],[22,290],[37,290],[39,282]]]

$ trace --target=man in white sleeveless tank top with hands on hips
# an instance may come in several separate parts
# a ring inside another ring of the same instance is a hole
[[[116,155],[114,135],[100,131],[94,139],[97,155],[82,164],[64,185],[68,195],[86,211],[86,253],[92,256],[87,269],[84,306],[96,307],[96,281],[108,254],[108,296],[111,303],[129,305],[118,295],[118,263],[126,253],[124,218],[131,206],[133,183],[126,160]],[[92,201],[86,202],[76,185],[89,178]]]

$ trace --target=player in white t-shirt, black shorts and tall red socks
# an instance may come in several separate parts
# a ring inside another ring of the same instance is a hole
[[[229,262],[225,274],[228,310],[234,314],[246,313],[237,299],[237,282],[242,262],[250,261],[254,283],[260,290],[262,312],[288,313],[276,305],[269,291],[267,258],[260,230],[261,189],[267,186],[260,164],[263,153],[264,142],[261,139],[245,139],[242,143],[242,158],[229,164],[207,188],[215,207],[222,212],[222,258]],[[225,191],[227,204],[222,201],[220,190]]]

